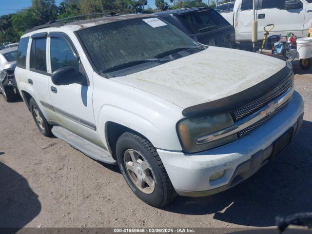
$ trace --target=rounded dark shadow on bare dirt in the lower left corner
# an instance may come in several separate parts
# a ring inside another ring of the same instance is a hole
[[[0,191],[0,228],[24,227],[39,214],[38,195],[23,176],[1,162]]]

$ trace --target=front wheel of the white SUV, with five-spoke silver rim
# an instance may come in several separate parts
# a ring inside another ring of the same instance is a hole
[[[145,203],[162,207],[176,198],[176,191],[156,149],[147,139],[122,134],[116,144],[117,162],[131,190]]]

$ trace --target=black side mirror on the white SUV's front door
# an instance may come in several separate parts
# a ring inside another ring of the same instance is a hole
[[[55,85],[81,84],[82,75],[74,67],[62,67],[52,73],[52,82]]]

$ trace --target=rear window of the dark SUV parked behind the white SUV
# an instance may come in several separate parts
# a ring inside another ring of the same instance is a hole
[[[219,13],[213,9],[196,11],[180,16],[194,34],[212,31],[229,26]]]

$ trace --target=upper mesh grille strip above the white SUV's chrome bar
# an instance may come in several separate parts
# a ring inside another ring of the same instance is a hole
[[[274,89],[271,93],[267,94],[266,96],[259,98],[256,101],[234,111],[232,113],[234,122],[236,122],[236,121],[238,121],[238,120],[240,120],[246,116],[249,116],[250,114],[252,114],[252,113],[256,112],[257,110],[261,109],[262,107],[264,107],[270,101],[278,98],[283,93],[285,93],[289,88],[291,88],[292,84],[293,84],[293,77],[286,80],[281,86]]]

